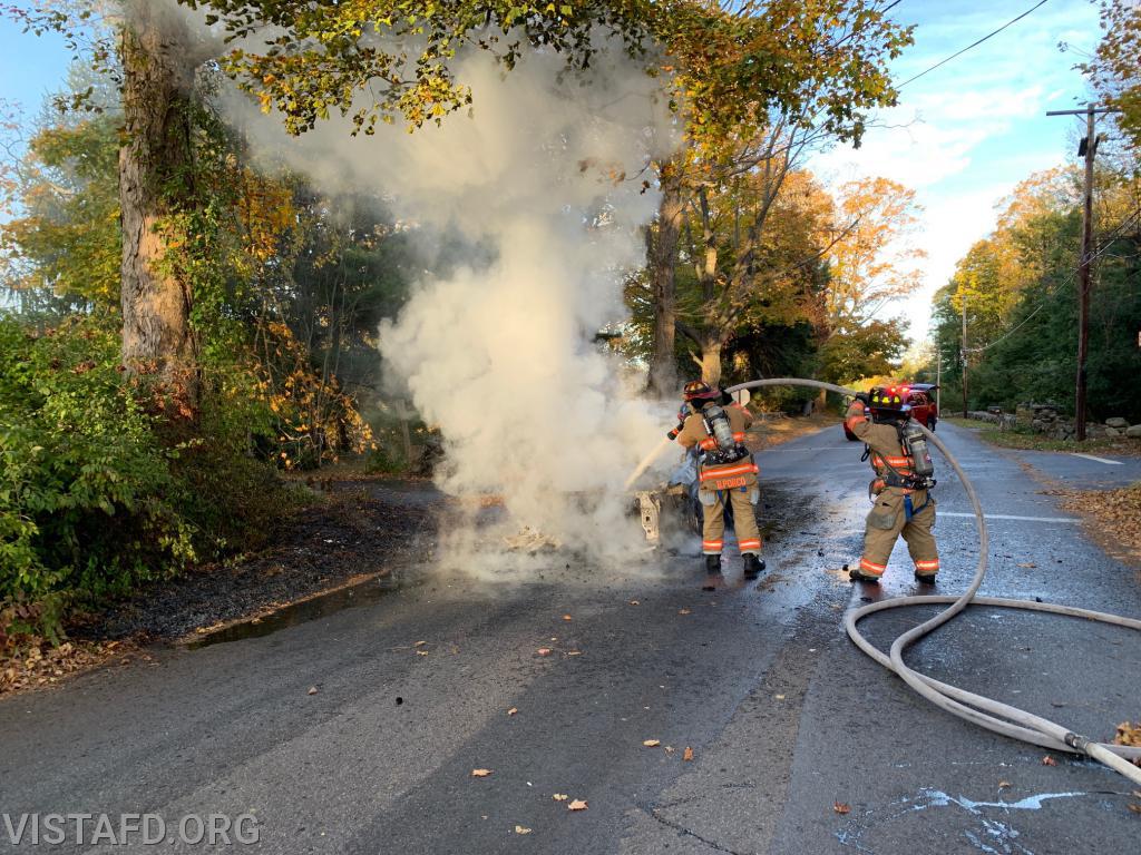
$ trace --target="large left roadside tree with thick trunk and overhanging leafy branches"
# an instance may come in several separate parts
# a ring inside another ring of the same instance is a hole
[[[461,46],[492,51],[508,68],[527,46],[563,52],[572,65],[584,66],[597,50],[596,27],[620,33],[637,50],[653,13],[640,0],[574,6],[462,0],[436,7],[382,0],[183,2],[203,8],[207,24],[241,41],[222,51],[222,67],[267,109],[276,106],[294,133],[313,128],[330,109],[351,113],[357,130],[366,133],[378,120],[397,115],[410,129],[438,122],[471,100],[450,65]],[[30,30],[64,32],[78,47],[96,6],[75,0],[8,11]],[[115,34],[122,66],[123,364],[153,377],[175,412],[191,415],[199,384],[195,276],[202,253],[212,251],[204,227],[210,213],[194,182],[195,83],[196,70],[217,57],[219,47],[207,33],[192,32],[187,16],[168,3],[120,0],[119,9],[105,24]],[[252,49],[259,36],[264,52]],[[96,40],[92,52],[97,63],[107,64],[115,54],[105,39]]]

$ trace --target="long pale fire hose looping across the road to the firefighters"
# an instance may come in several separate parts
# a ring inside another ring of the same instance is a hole
[[[801,380],[796,377],[754,380],[748,383],[739,383],[735,386],[729,386],[726,391],[736,392],[742,389],[779,385],[809,386],[812,389],[825,389],[830,392],[837,392],[848,397],[856,396],[856,392],[850,389],[844,389],[843,386],[833,385],[832,383],[823,383],[817,380]],[[1109,766],[1115,772],[1119,772],[1134,783],[1141,784],[1141,768],[1131,763],[1131,760],[1141,758],[1141,748],[1095,742],[1086,736],[1074,733],[1063,725],[1034,715],[1033,712],[1028,712],[1027,710],[1002,703],[1001,701],[986,698],[981,694],[976,694],[974,692],[968,692],[964,689],[960,689],[924,674],[920,674],[904,661],[904,651],[915,644],[923,636],[934,632],[938,627],[949,621],[956,614],[962,612],[968,605],[972,604],[996,606],[1001,609],[1026,609],[1027,611],[1046,612],[1049,614],[1065,614],[1067,617],[1085,618],[1087,620],[1097,620],[1102,624],[1141,630],[1141,620],[1133,620],[1132,618],[1124,618],[1117,614],[1108,614],[1106,612],[1091,611],[1089,609],[1077,609],[1070,605],[1042,603],[1037,600],[1008,600],[1005,597],[977,596],[978,589],[982,585],[982,578],[987,572],[987,560],[990,545],[989,534],[987,532],[987,521],[982,513],[982,505],[979,503],[979,497],[974,491],[974,487],[971,484],[966,473],[963,472],[962,467],[958,465],[954,455],[947,450],[947,447],[942,443],[942,441],[936,437],[934,433],[929,431],[925,425],[920,425],[920,427],[923,433],[926,434],[928,441],[939,449],[942,456],[947,459],[947,463],[949,463],[952,469],[955,470],[955,474],[958,475],[958,480],[962,482],[963,489],[966,491],[966,496],[971,502],[971,508],[974,511],[974,520],[979,532],[979,563],[974,569],[974,577],[971,579],[971,584],[966,587],[966,591],[958,596],[904,596],[895,600],[884,600],[871,603],[858,609],[850,609],[844,614],[844,629],[848,632],[849,637],[856,643],[856,646],[858,646],[867,656],[888,670],[899,675],[899,677],[901,677],[907,685],[940,709],[944,709],[954,716],[958,716],[960,718],[964,718],[968,722],[973,722],[981,727],[986,727],[988,731],[1001,733],[1004,736],[1011,736],[1023,742],[1029,742],[1030,744],[1041,746],[1042,748],[1046,748],[1052,751],[1086,755],[1106,766]],[[875,612],[885,611],[887,609],[900,609],[911,605],[937,604],[946,604],[947,608],[896,638],[887,656],[884,656],[880,649],[864,637],[859,630],[859,621],[869,614],[874,614]]]

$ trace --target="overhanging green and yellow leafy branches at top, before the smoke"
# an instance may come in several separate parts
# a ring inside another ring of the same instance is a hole
[[[604,41],[599,31],[622,36],[637,51],[650,22],[664,14],[648,0],[179,2],[205,9],[205,23],[220,24],[237,42],[225,57],[226,70],[265,108],[281,111],[291,133],[311,129],[334,109],[351,115],[365,133],[396,117],[410,129],[438,123],[471,103],[470,89],[452,67],[461,48],[489,51],[505,68],[527,48],[559,52],[572,66],[585,67]]]

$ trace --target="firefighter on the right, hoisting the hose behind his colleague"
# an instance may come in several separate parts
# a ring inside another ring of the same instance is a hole
[[[906,386],[876,386],[857,396],[848,408],[844,424],[866,443],[864,455],[875,472],[868,484],[875,506],[867,515],[864,555],[849,573],[855,580],[879,581],[900,535],[917,581],[933,585],[939,572],[939,551],[931,534],[933,467],[923,432],[911,423],[908,391]]]

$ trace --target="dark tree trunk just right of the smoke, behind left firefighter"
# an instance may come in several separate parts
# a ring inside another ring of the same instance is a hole
[[[681,235],[681,178],[672,162],[662,164],[662,202],[658,205],[656,234],[648,234],[650,288],[654,294],[654,351],[649,361],[650,393],[672,398],[678,393],[678,367],[674,358],[677,292],[674,266]]]

